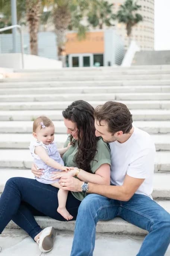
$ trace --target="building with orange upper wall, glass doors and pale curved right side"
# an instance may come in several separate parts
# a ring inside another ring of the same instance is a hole
[[[122,63],[125,52],[123,41],[113,29],[89,31],[81,41],[75,32],[68,32],[66,37],[67,67],[114,66]]]

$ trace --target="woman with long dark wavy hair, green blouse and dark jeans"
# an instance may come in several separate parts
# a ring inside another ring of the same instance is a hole
[[[64,124],[70,134],[64,146],[69,142],[69,150],[63,154],[65,166],[75,167],[63,175],[77,176],[82,181],[97,184],[110,184],[110,151],[106,143],[95,137],[94,108],[85,101],[75,101],[63,111]],[[32,172],[40,176],[35,166]],[[57,174],[53,174],[53,178]],[[64,184],[63,184],[64,186]],[[55,236],[52,227],[43,231],[34,216],[49,216],[65,221],[57,212],[58,188],[37,182],[34,179],[10,178],[0,198],[0,234],[12,219],[39,244],[42,252],[53,248]],[[85,194],[69,192],[66,207],[73,219],[76,219],[78,207]]]

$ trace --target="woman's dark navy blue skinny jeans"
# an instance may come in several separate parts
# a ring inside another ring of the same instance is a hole
[[[41,232],[34,216],[49,216],[56,220],[66,221],[58,212],[58,188],[27,178],[10,178],[0,197],[0,234],[6,225],[13,220],[33,239]],[[67,197],[66,208],[76,219],[81,201],[71,192]]]

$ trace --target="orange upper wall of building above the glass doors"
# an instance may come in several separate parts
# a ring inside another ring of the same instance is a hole
[[[66,54],[72,53],[104,53],[103,31],[86,33],[85,40],[79,41],[76,33],[66,35]]]

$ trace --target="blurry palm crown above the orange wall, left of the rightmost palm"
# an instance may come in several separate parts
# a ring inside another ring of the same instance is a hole
[[[107,27],[113,26],[111,21],[116,18],[112,12],[113,5],[105,0],[92,1],[87,14],[89,24],[94,28],[99,27],[100,29],[103,28],[103,25]]]

